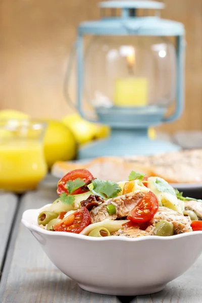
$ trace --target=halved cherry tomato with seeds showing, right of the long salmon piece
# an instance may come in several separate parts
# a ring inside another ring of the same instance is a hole
[[[159,200],[157,196],[149,191],[132,209],[127,219],[134,223],[143,223],[150,221],[157,213],[159,208]]]

